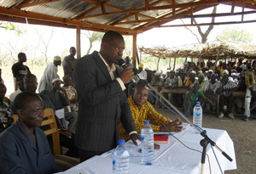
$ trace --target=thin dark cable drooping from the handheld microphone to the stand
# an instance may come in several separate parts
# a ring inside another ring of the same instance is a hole
[[[135,87],[137,87],[137,84],[135,85]],[[137,87],[137,89],[139,90],[139,92],[140,92],[141,95],[143,96],[142,91],[141,91],[138,87]],[[148,90],[148,92],[151,93],[151,94],[153,94],[154,98],[156,98],[157,100],[160,101],[160,99],[157,98],[157,97],[154,95],[154,93],[150,92],[150,90]],[[154,111],[149,107],[149,105],[148,105],[148,103],[147,103],[147,100],[144,98],[144,96],[143,96],[143,99],[144,99],[145,104],[147,105],[148,109],[150,109],[150,111],[153,113],[153,115],[154,115],[154,117],[157,119],[157,121],[159,121],[160,124],[165,127],[165,129],[166,129],[166,131],[168,132],[169,135],[172,135],[172,133],[169,131],[169,129],[166,127],[166,125],[163,123],[163,121],[160,121],[160,119],[155,115]],[[160,101],[160,103],[164,104],[162,101]],[[165,104],[165,106],[166,106],[166,104]],[[169,109],[169,107],[167,107],[167,106],[166,106],[166,108]],[[169,109],[169,110],[172,110],[172,109]],[[176,112],[173,111],[173,113],[176,113]],[[176,113],[176,114],[177,114],[177,113]],[[179,116],[179,115],[177,115],[177,116]],[[180,117],[180,116],[179,116],[179,117]],[[182,143],[183,146],[186,147],[187,149],[190,149],[190,150],[193,150],[193,151],[195,151],[195,152],[198,152],[198,153],[201,153],[201,154],[202,154],[202,152],[199,151],[199,150],[197,150],[197,149],[189,148],[189,146],[187,146],[186,144],[184,144],[180,139],[178,139],[178,138],[175,137],[174,135],[172,135],[172,137],[175,138],[175,139],[177,139],[177,141],[178,141],[179,143]],[[210,174],[212,174],[211,163],[210,163],[210,159],[209,159],[209,155],[208,155],[208,154],[207,154],[207,160],[208,160],[208,163],[209,163]]]

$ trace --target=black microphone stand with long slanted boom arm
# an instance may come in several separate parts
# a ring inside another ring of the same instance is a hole
[[[139,76],[137,76],[139,78]],[[185,121],[188,121],[189,124],[193,127],[195,127],[195,129],[200,132],[201,136],[203,137],[203,139],[201,140],[201,146],[203,147],[203,151],[201,154],[201,173],[203,173],[204,171],[204,165],[205,165],[205,160],[206,160],[206,154],[207,154],[207,145],[208,143],[211,143],[213,147],[215,147],[216,149],[218,149],[218,151],[220,151],[221,154],[224,155],[224,157],[226,157],[228,160],[230,160],[230,162],[232,161],[232,159],[230,158],[230,156],[228,154],[226,154],[222,149],[220,149],[215,142],[212,141],[211,138],[209,138],[207,136],[206,131],[201,131],[201,129],[199,129],[197,126],[195,126],[191,121],[189,121],[189,119],[183,115],[183,113],[181,111],[179,111],[168,99],[166,99],[162,94],[160,94],[152,85],[150,85],[150,83],[148,83],[148,81],[146,81],[146,87],[149,87],[152,91],[154,91],[155,93],[157,93],[160,98],[163,98],[167,104],[169,104],[172,109],[174,109],[177,114],[181,115],[183,117],[183,119]]]

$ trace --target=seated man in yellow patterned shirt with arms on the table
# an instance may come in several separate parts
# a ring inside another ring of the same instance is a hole
[[[149,121],[154,132],[167,132],[161,122],[168,128],[170,132],[181,132],[183,129],[183,121],[179,118],[170,121],[160,113],[156,112],[154,107],[147,101],[148,90],[144,87],[143,82],[137,82],[132,95],[128,98],[131,107],[131,114],[138,133],[141,132],[144,121]],[[129,135],[125,132],[124,126],[119,124],[119,139],[129,140]]]

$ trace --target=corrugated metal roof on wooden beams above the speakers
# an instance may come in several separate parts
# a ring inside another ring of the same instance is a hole
[[[28,3],[27,3],[28,2]],[[107,2],[107,3],[106,3]],[[27,18],[35,24],[81,25],[95,31],[118,30],[127,33],[146,31],[219,3],[256,9],[256,3],[237,0],[0,0],[0,20]],[[256,2],[256,1],[254,1]],[[175,13],[172,13],[172,9]],[[26,13],[24,13],[26,12]],[[229,12],[230,13],[230,12]],[[44,15],[41,15],[44,14]],[[172,16],[174,14],[174,16]],[[9,18],[11,17],[11,18]],[[150,26],[149,28],[147,28]]]

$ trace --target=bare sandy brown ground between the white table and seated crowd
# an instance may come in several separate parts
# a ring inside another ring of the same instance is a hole
[[[156,109],[162,115],[171,119],[177,118],[168,109]],[[248,122],[241,121],[241,115],[235,115],[231,120],[225,116],[218,119],[215,114],[203,114],[203,127],[226,130],[233,140],[236,151],[236,166],[233,171],[225,171],[227,174],[255,174],[256,173],[256,116],[252,116]],[[192,116],[189,117],[192,121]]]

